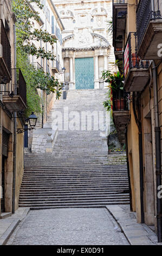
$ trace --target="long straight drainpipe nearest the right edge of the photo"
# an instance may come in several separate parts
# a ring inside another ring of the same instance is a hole
[[[155,119],[155,157],[156,157],[156,181],[157,181],[157,229],[158,242],[162,242],[162,209],[161,198],[158,197],[158,192],[161,189],[161,147],[160,147],[160,126],[159,126],[159,107],[158,107],[158,81],[157,67],[152,60],[153,72],[153,94],[154,94],[154,119]],[[159,189],[160,188],[160,189]]]

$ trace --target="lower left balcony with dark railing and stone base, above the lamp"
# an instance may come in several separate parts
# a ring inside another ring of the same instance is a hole
[[[20,69],[12,69],[12,77],[17,77],[17,82],[2,85],[4,91],[2,101],[9,111],[24,111],[27,108],[27,86]]]

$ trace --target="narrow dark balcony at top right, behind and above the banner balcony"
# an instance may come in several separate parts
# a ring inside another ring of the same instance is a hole
[[[123,40],[124,40],[125,27],[126,27],[126,14],[127,14],[127,0],[113,0],[113,46],[114,48],[123,47]]]

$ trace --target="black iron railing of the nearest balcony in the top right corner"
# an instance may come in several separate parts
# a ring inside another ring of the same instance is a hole
[[[140,0],[137,8],[137,37],[138,48],[145,34],[148,23],[152,20],[162,19],[161,0]]]

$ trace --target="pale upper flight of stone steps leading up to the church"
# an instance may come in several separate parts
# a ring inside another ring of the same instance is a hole
[[[107,89],[70,90],[66,100],[55,101],[47,125],[34,131],[31,147],[33,154],[48,152],[52,157],[47,154],[47,163],[45,155],[33,157],[28,153],[25,165],[31,164],[31,158],[34,165],[50,166],[107,162],[109,115],[103,107],[106,92]],[[55,131],[53,141],[48,138],[52,130]]]

